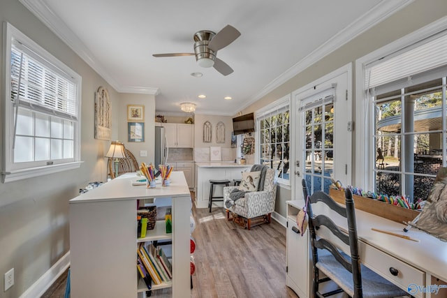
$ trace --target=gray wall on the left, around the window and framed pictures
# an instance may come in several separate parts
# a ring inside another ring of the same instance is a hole
[[[3,54],[3,22],[9,22],[82,76],[81,159],[79,169],[22,181],[0,183],[0,297],[19,297],[70,249],[68,200],[89,181],[105,181],[109,141],[94,139],[94,94],[103,86],[112,103],[112,140],[122,140],[138,161],[140,149],[147,161],[154,157],[155,98],[147,94],[119,94],[85,61],[24,8],[18,0],[0,1],[0,57]],[[0,61],[0,98],[4,100],[3,59]],[[145,143],[127,142],[126,105],[145,105]],[[124,112],[122,112],[124,111]],[[0,117],[3,140],[3,117]],[[2,144],[3,141],[0,141]],[[3,148],[0,156],[3,156]],[[3,274],[15,271],[15,284],[3,292]]]

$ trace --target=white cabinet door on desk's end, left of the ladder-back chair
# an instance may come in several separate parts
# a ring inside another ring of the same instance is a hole
[[[287,281],[300,297],[309,294],[309,231],[304,236],[295,232],[298,227],[295,221],[287,221]]]

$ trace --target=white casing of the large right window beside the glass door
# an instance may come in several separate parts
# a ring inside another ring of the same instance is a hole
[[[368,98],[365,88],[366,69],[375,61],[400,52],[404,48],[411,47],[421,40],[446,29],[447,17],[443,17],[356,60],[356,127],[358,135],[364,137],[356,139],[355,171],[362,174],[356,175],[356,181],[353,181],[353,185],[364,189],[374,188],[374,161],[376,156],[372,140],[374,135],[374,105],[372,100]],[[364,156],[368,156],[368,158],[364,158]]]

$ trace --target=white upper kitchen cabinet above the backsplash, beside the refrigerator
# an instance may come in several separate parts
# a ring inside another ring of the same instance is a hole
[[[170,148],[193,148],[194,125],[180,123],[163,123],[166,128],[166,140]]]

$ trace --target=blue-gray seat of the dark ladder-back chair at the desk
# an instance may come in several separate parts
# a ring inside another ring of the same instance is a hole
[[[330,253],[322,254],[318,250],[318,262],[316,267],[320,269],[328,278],[337,283],[340,288],[349,296],[353,297],[353,276],[351,272],[346,270],[334,256]],[[346,260],[349,255],[342,253]],[[390,283],[385,278],[379,276],[374,271],[364,265],[360,265],[362,274],[362,291],[363,297],[379,298],[379,297],[397,297],[407,295],[404,290],[397,288],[396,285]]]

